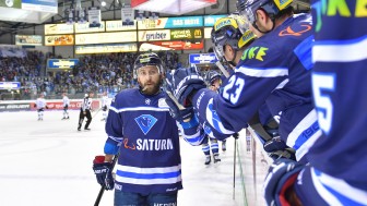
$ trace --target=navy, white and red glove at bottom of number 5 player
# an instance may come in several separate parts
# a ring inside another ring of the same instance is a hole
[[[293,184],[305,166],[291,159],[276,159],[270,167],[264,181],[264,196],[268,205],[297,205],[294,203]]]

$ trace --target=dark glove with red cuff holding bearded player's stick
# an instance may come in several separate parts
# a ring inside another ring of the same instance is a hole
[[[105,156],[96,156],[93,161],[93,171],[96,174],[97,182],[105,189],[113,190],[115,186],[113,178],[113,163],[105,162]]]

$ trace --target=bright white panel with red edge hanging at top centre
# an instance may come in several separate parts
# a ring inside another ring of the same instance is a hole
[[[180,15],[215,4],[217,0],[131,0],[134,10]]]

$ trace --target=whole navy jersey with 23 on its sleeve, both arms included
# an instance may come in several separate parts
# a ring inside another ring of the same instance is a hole
[[[288,17],[257,39],[244,51],[221,96],[208,89],[194,95],[199,119],[232,134],[245,128],[265,102],[280,123],[282,140],[301,159],[321,134],[311,95],[312,40],[310,14]]]

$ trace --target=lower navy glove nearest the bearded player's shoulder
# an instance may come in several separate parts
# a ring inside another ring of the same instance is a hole
[[[193,108],[185,108],[181,107],[175,99],[175,97],[171,95],[170,92],[166,92],[166,102],[169,107],[169,113],[170,116],[177,120],[178,122],[188,122],[191,120],[193,116]]]

